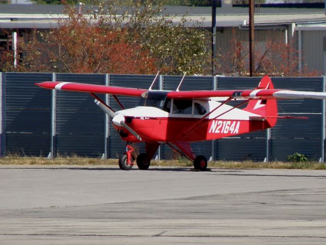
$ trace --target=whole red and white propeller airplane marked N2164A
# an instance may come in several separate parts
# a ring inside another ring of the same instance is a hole
[[[158,73],[148,90],[72,82],[41,82],[36,85],[90,93],[96,105],[112,118],[114,128],[126,141],[126,152],[119,158],[119,167],[123,170],[131,169],[135,160],[140,169],[147,169],[160,143],[168,144],[191,160],[195,169],[205,170],[206,157],[195,156],[190,142],[264,130],[274,127],[278,118],[294,118],[278,115],[278,99],[326,99],[324,92],[274,89],[268,76],[251,90],[180,91],[184,76],[175,91],[153,90]],[[122,110],[114,111],[95,93],[112,94]],[[138,106],[125,109],[117,95],[139,97]],[[230,101],[238,103],[227,105]],[[131,143],[139,142],[145,142],[146,153],[135,157]]]

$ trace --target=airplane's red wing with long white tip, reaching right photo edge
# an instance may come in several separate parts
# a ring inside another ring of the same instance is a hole
[[[282,89],[253,90],[199,90],[171,91],[167,94],[171,99],[200,99],[207,97],[231,97],[254,99],[326,99],[324,92],[295,91]]]

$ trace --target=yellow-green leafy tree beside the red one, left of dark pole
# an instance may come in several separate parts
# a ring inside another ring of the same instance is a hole
[[[207,40],[210,33],[188,14],[162,14],[161,6],[150,1],[128,9],[131,16],[126,28],[131,42],[139,42],[157,60],[157,69],[164,74],[205,74],[209,69],[210,53]],[[189,23],[191,23],[189,25]]]

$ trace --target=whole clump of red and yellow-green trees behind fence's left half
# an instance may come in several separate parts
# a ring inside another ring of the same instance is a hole
[[[66,8],[67,18],[50,32],[33,31],[21,43],[22,62],[4,70],[181,75],[204,74],[209,67],[207,33],[188,27],[186,15],[162,14],[160,6],[99,4],[86,14]],[[9,58],[9,57],[8,57]]]

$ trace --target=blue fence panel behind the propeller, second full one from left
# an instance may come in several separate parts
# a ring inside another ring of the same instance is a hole
[[[57,81],[105,85],[102,74],[57,74]],[[100,94],[101,100],[104,95]],[[104,153],[105,114],[89,93],[57,90],[56,148],[60,155],[99,157]]]

